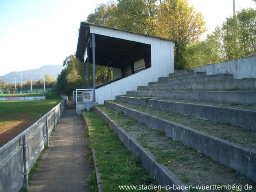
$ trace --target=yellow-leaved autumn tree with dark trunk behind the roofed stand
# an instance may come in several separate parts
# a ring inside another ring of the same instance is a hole
[[[182,52],[187,44],[196,41],[206,31],[204,16],[196,13],[187,0],[164,0],[157,12],[157,35],[177,41],[175,67],[183,68]]]

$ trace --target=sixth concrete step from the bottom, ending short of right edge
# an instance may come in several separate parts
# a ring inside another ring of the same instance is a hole
[[[199,77],[189,77],[183,79],[174,79],[168,81],[157,81],[157,82],[149,82],[149,86],[151,85],[168,85],[168,84],[179,84],[179,83],[187,83],[187,82],[206,82],[206,81],[223,81],[223,80],[233,80],[233,74],[215,74],[215,75],[205,75]]]

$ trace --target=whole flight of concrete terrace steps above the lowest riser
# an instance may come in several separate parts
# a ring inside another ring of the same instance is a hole
[[[255,79],[178,71],[96,108],[179,182],[249,183],[256,190]]]

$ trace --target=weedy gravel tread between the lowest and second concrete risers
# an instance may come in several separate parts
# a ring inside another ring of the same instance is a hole
[[[163,132],[151,129],[144,123],[110,107],[98,106],[97,108],[138,140],[157,158],[157,162],[168,167],[186,185],[233,185],[236,183],[242,186],[252,185],[252,191],[256,190],[256,184],[253,181],[206,155],[198,153],[193,148],[188,148],[179,141],[166,137]],[[230,190],[225,192],[230,192]]]

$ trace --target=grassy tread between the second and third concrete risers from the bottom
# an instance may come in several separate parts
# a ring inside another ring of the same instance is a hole
[[[179,113],[158,110],[153,107],[145,107],[138,104],[130,104],[127,102],[110,101],[116,104],[121,104],[124,107],[145,112],[149,115],[154,115],[192,129],[196,129],[210,135],[214,135],[224,140],[237,143],[244,147],[256,149],[256,132],[250,129],[244,129],[238,126],[232,126],[229,123],[220,123],[211,120],[195,118],[191,115],[182,115]]]

